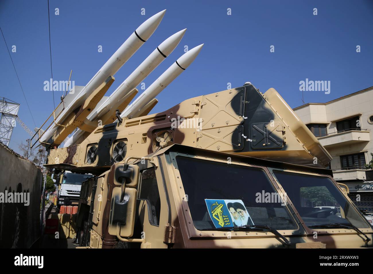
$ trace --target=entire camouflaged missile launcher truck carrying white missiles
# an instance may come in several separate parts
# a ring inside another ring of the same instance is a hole
[[[112,95],[103,91],[115,70],[82,106],[59,111],[58,121],[39,130],[45,166],[94,175],[79,197],[81,248],[372,247],[372,227],[325,168],[329,153],[275,89],[263,94],[246,82],[149,115],[203,44],[129,104],[184,32],[157,47]]]

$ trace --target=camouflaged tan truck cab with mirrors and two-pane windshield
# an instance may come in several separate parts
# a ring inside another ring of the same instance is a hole
[[[360,248],[372,227],[328,169],[171,145],[85,181],[87,248]]]

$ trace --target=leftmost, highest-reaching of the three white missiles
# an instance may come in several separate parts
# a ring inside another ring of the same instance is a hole
[[[123,64],[125,64],[128,59],[132,57],[132,55],[144,44],[144,42],[150,38],[150,36],[157,29],[165,12],[166,10],[162,10],[142,23],[109,58],[109,60],[107,60],[107,62],[93,76],[86,86],[84,86],[82,89],[78,89],[78,92],[66,95],[64,100],[67,99],[65,102],[68,102],[69,104],[67,106],[60,105],[60,111],[55,111],[56,113],[60,114],[57,116],[56,121],[54,121],[53,127],[50,127],[41,136],[41,142],[48,142],[59,127],[59,125],[56,124],[61,124],[72,113],[73,110],[84,104],[84,101],[89,98],[90,94],[96,91],[101,84],[107,81],[109,76],[113,76],[120,69],[120,67],[122,67]]]

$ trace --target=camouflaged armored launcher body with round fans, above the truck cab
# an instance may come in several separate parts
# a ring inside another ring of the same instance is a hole
[[[95,173],[97,167],[107,170],[128,156],[145,156],[174,143],[316,167],[331,160],[275,89],[263,95],[251,84],[99,126],[81,140],[69,157],[76,170]],[[47,166],[57,167],[55,154],[50,152]]]

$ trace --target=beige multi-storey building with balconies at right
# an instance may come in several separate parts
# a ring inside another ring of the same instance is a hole
[[[373,153],[373,86],[294,111],[332,155],[336,181],[348,185],[352,201],[360,194],[359,209],[373,211],[373,170],[364,167]]]

